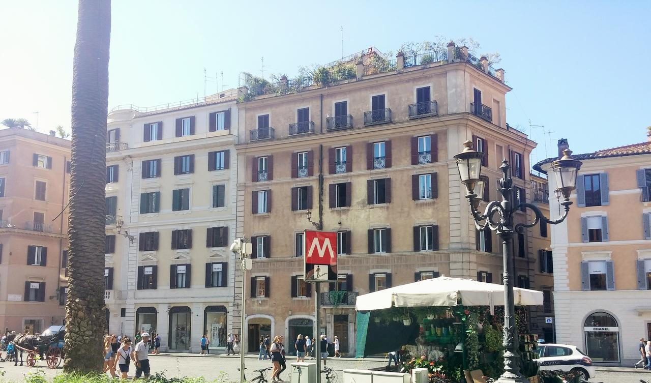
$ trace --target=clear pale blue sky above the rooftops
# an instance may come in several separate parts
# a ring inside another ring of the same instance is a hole
[[[36,124],[38,111],[40,131],[69,127],[76,1],[6,0],[0,14],[0,119]],[[293,76],[340,57],[340,26],[344,55],[471,36],[501,54],[507,121],[538,141],[534,160],[559,137],[588,152],[646,140],[650,15],[651,1],[114,0],[109,107],[202,96],[204,68],[236,87],[263,56],[265,74]]]

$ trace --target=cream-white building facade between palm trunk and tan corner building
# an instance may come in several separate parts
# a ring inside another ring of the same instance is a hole
[[[161,350],[225,349],[233,322],[237,91],[117,107],[106,144],[109,331],[158,333]],[[176,105],[176,106],[175,106]]]

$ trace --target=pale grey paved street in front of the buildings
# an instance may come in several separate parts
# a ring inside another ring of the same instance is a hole
[[[152,372],[165,371],[168,377],[173,376],[204,376],[208,380],[214,380],[219,377],[223,372],[227,374],[228,378],[222,382],[236,382],[239,380],[238,368],[240,367],[240,359],[232,357],[213,357],[213,356],[187,356],[183,354],[180,356],[151,356]],[[288,360],[291,362],[291,360]],[[266,366],[271,366],[271,362],[258,361],[256,358],[247,358],[247,371],[260,369]],[[385,362],[380,360],[352,360],[352,359],[337,359],[329,360],[328,366],[335,368],[338,371],[342,369],[368,369],[380,367]],[[43,364],[43,363],[41,363]],[[38,370],[44,371],[46,376],[52,377],[61,372],[61,369],[51,370],[46,368],[29,368],[29,367],[14,367],[13,364],[7,362],[0,364],[0,369],[7,373],[3,376],[3,382],[18,382],[25,374],[34,373]],[[130,376],[133,375],[135,368],[132,365]],[[285,371],[282,377],[286,380],[289,379],[289,371]],[[342,375],[339,372],[338,383],[343,383]],[[252,378],[253,374],[247,375],[247,378]],[[651,380],[651,372],[635,369],[620,369],[617,371],[598,371],[598,378],[591,379],[590,382],[603,382],[603,383],[637,383],[640,379]]]

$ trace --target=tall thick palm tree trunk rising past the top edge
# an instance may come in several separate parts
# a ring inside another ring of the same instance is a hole
[[[111,1],[79,0],[72,68],[70,283],[66,372],[101,373],[104,311],[104,188]]]

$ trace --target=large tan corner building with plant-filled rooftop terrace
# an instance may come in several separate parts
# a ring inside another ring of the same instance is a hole
[[[517,198],[531,201],[536,143],[506,124],[503,70],[453,44],[426,55],[389,59],[370,49],[333,63],[355,70],[328,86],[283,78],[242,89],[237,236],[253,242],[246,351],[271,333],[285,335],[293,353],[296,335],[314,335],[314,299],[323,307],[318,331],[354,354],[359,294],[439,275],[501,281],[501,246],[477,233],[452,156],[468,139],[486,154],[486,199],[497,198],[498,168],[510,158]],[[338,233],[339,281],[318,297],[302,279],[308,210]],[[516,270],[521,285],[537,288],[544,246],[529,235],[515,246]],[[333,290],[346,291],[342,302]]]

